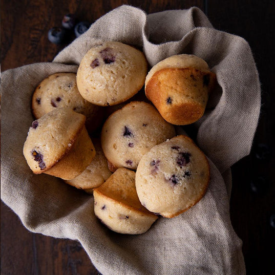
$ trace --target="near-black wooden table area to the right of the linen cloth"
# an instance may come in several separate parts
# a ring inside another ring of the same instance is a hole
[[[251,154],[232,167],[232,196],[230,213],[232,225],[243,241],[247,274],[275,274],[275,229],[269,218],[275,213],[275,102],[274,76],[274,1],[210,0],[208,18],[215,28],[245,38],[255,58],[262,85],[262,109]],[[271,38],[273,37],[273,38]],[[259,143],[268,144],[273,151],[269,161],[259,161],[254,149]],[[268,186],[263,194],[251,191],[250,182],[264,177]],[[269,252],[268,252],[269,251]]]

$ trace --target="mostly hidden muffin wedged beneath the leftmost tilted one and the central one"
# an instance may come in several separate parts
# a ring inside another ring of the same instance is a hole
[[[112,172],[108,169],[107,159],[101,149],[100,139],[93,139],[96,155],[90,165],[76,178],[65,182],[93,194],[93,188],[100,186]]]

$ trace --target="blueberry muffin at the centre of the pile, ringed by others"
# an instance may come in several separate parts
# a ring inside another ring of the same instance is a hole
[[[174,126],[166,122],[153,105],[132,101],[105,121],[101,145],[112,172],[119,167],[136,170],[144,154],[174,136]]]

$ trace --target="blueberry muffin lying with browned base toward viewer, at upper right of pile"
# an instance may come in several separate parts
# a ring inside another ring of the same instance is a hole
[[[203,59],[174,55],[160,61],[147,74],[145,94],[166,121],[186,125],[202,117],[215,82],[216,75]]]

